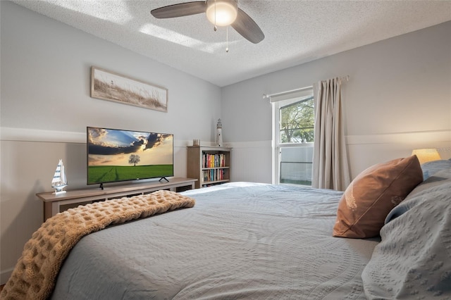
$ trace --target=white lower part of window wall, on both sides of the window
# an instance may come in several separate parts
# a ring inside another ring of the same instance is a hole
[[[451,158],[451,130],[350,135],[346,140],[352,178],[376,163],[410,156],[413,149],[436,148],[441,158]],[[226,146],[233,148],[232,181],[271,183],[271,141],[230,142]]]

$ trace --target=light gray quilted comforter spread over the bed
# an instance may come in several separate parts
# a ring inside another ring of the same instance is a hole
[[[83,237],[53,299],[365,299],[377,239],[332,237],[342,192],[231,183]]]

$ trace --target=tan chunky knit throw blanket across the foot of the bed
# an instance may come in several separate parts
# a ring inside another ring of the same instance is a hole
[[[11,278],[1,291],[1,299],[47,299],[70,249],[89,233],[108,225],[147,218],[176,208],[194,206],[194,199],[175,192],[95,202],[49,218],[25,244]]]

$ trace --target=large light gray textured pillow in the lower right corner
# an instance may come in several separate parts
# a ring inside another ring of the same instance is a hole
[[[429,177],[390,212],[362,272],[368,299],[451,299],[450,191],[451,168]]]

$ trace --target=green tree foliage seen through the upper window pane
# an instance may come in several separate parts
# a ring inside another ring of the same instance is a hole
[[[280,108],[280,143],[313,141],[313,99],[302,100]]]

